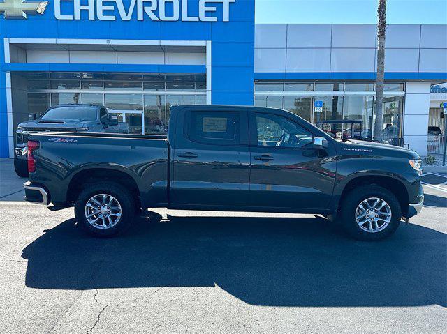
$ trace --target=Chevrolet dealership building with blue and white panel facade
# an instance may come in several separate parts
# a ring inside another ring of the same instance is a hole
[[[10,2],[0,3],[0,158],[13,157],[29,113],[65,103],[103,104],[141,134],[165,132],[171,105],[206,103],[360,120],[372,135],[374,24],[255,24],[254,0]],[[445,125],[447,26],[389,25],[385,77],[386,141],[427,155],[430,123]]]

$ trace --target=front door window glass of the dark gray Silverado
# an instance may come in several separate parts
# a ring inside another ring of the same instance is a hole
[[[258,146],[302,147],[312,142],[312,133],[285,117],[256,114]]]

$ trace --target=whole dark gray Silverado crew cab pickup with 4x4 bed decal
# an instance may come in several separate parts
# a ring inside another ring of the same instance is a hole
[[[167,207],[321,214],[377,240],[423,206],[417,153],[336,140],[280,109],[172,107],[167,137],[60,132],[28,146],[27,201],[74,206],[97,236]]]

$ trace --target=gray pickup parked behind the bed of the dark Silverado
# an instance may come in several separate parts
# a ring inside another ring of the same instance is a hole
[[[28,176],[27,142],[30,134],[54,131],[129,132],[129,126],[118,124],[117,116],[108,114],[102,105],[57,105],[43,115],[31,114],[31,119],[17,127],[14,169],[20,177]]]

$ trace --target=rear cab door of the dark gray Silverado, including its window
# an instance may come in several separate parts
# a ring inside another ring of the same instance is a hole
[[[175,119],[171,205],[246,205],[250,165],[247,109],[185,108]]]

